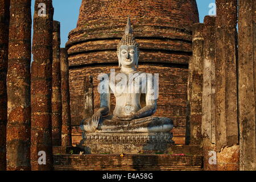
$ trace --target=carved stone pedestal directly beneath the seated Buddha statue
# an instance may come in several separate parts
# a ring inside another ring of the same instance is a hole
[[[85,154],[168,154],[172,133],[83,133]]]

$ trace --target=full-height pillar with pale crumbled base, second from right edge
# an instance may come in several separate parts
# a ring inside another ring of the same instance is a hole
[[[237,170],[237,0],[216,0],[216,5],[217,165],[219,170]]]

